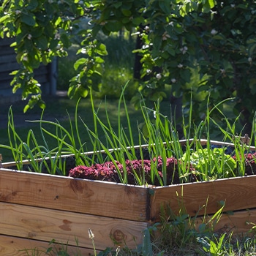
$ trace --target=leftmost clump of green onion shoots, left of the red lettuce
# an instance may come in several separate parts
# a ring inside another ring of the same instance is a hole
[[[39,121],[31,122],[40,123],[40,131],[44,145],[39,145],[37,143],[37,139],[32,129],[30,129],[28,132],[26,142],[20,138],[18,133],[15,131],[12,109],[10,108],[8,121],[8,136],[10,146],[1,145],[1,148],[7,148],[12,151],[12,156],[15,160],[18,170],[23,170],[23,160],[25,160],[26,164],[31,166],[29,167],[29,170],[42,173],[43,168],[45,168],[50,174],[66,175],[66,159],[61,158],[61,156],[64,154],[74,154],[77,165],[85,164],[87,158],[81,154],[81,151],[83,151],[83,144],[80,140],[78,140],[80,149],[77,149],[75,142],[74,129],[79,135],[77,121],[75,121],[74,128],[72,121],[69,118],[71,132],[68,132],[67,129],[62,127],[58,122],[55,123],[52,121],[43,121],[42,118]],[[54,127],[56,127],[56,134],[53,134],[52,132],[49,132],[47,129],[43,128],[42,124],[52,124]],[[48,147],[44,132],[56,140],[57,146],[55,148]],[[69,139],[69,142],[67,142],[66,138]]]

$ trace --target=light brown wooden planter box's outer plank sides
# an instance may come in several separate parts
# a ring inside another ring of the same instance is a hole
[[[92,250],[89,228],[97,250],[116,245],[136,248],[143,230],[159,221],[160,209],[175,214],[184,206],[190,216],[214,214],[225,201],[215,227],[245,233],[256,223],[256,176],[227,178],[167,187],[139,187],[105,181],[51,176],[0,168],[0,251],[27,255],[19,250],[48,248],[53,238],[69,244],[78,239],[82,255]],[[232,214],[230,214],[232,211]]]

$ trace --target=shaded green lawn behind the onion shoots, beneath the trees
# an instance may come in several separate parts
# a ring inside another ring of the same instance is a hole
[[[66,128],[70,132],[70,122],[69,117],[72,120],[72,125],[75,125],[75,106],[77,104],[76,100],[68,99],[67,97],[48,97],[45,99],[46,109],[44,111],[43,120],[50,121],[59,121],[61,126]],[[23,102],[18,102],[12,105],[12,112],[14,116],[15,130],[20,136],[20,138],[27,143],[27,135],[29,129],[32,129],[34,135],[37,138],[37,143],[39,145],[44,144],[42,140],[42,135],[39,127],[39,123],[26,122],[25,126],[20,126],[20,119],[26,120],[39,120],[42,110],[35,107],[31,110],[28,110],[27,113],[23,113]],[[121,108],[120,113],[118,113],[118,100],[117,99],[94,99],[94,108],[97,110],[97,114],[102,122],[108,124],[106,111],[108,111],[108,116],[110,118],[111,127],[117,132],[118,129],[118,116],[121,117],[121,124],[124,129],[127,128],[127,118],[125,115],[124,108]],[[131,127],[133,128],[133,138],[135,143],[138,143],[138,125],[143,122],[143,116],[140,110],[135,110],[132,104],[127,102],[127,108],[129,110],[129,118],[131,122]],[[8,115],[9,106],[3,106],[1,108],[1,113],[4,113],[4,116]],[[170,104],[169,102],[162,102],[161,112],[165,115],[170,115]],[[20,117],[21,116],[21,117]],[[87,151],[92,150],[88,132],[84,127],[86,123],[90,129],[94,130],[94,119],[91,110],[91,100],[89,98],[81,99],[78,105],[78,131],[80,133],[80,138],[82,143],[86,143]],[[50,124],[43,124],[45,129],[48,129],[53,134],[56,134],[56,127]],[[74,127],[75,129],[75,127]],[[105,141],[105,135],[99,129],[99,140]],[[59,137],[61,135],[59,134]],[[10,145],[10,140],[8,137],[7,128],[0,129],[0,143],[4,145]],[[50,136],[45,135],[49,148],[55,148],[57,146],[56,140],[50,138]],[[12,153],[9,150],[0,148],[0,153],[3,156],[3,162],[12,161]]]

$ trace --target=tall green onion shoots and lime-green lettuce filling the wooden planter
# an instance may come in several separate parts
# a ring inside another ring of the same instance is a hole
[[[236,137],[236,118],[233,124],[219,109],[219,105],[224,104],[227,100],[219,102],[214,108],[206,108],[206,118],[197,126],[192,124],[192,105],[189,110],[189,126],[186,127],[183,118],[183,143],[178,139],[178,132],[176,131],[175,118],[168,118],[160,112],[159,101],[156,102],[154,110],[147,108],[143,99],[140,102],[140,110],[143,116],[144,125],[140,127],[132,126],[130,121],[127,103],[124,97],[124,91],[118,101],[118,125],[117,130],[114,129],[111,122],[110,113],[105,102],[105,116],[106,122],[102,121],[99,116],[99,109],[94,106],[94,100],[91,95],[91,110],[93,113],[93,129],[78,116],[79,100],[75,108],[75,121],[72,121],[69,113],[69,129],[64,128],[59,121],[45,121],[43,115],[40,120],[32,121],[38,122],[40,126],[41,135],[43,138],[42,145],[39,145],[37,138],[32,129],[29,130],[26,141],[21,140],[20,136],[15,130],[15,124],[12,115],[12,109],[9,111],[8,121],[8,136],[10,146],[0,145],[1,148],[7,148],[12,151],[13,159],[17,165],[18,170],[23,168],[23,160],[29,161],[31,170],[42,172],[43,167],[51,174],[67,175],[65,173],[65,166],[67,162],[61,156],[67,155],[75,158],[75,165],[91,166],[95,163],[103,163],[111,161],[116,167],[119,180],[127,184],[127,167],[126,160],[129,161],[138,159],[142,160],[143,168],[143,150],[146,148],[151,162],[151,182],[164,186],[167,184],[167,159],[175,157],[178,159],[178,177],[181,182],[189,181],[191,174],[194,174],[198,180],[209,180],[215,178],[225,178],[230,176],[243,176],[245,173],[246,152],[249,152],[249,146],[241,143]],[[123,127],[121,121],[121,106],[124,106],[125,118],[127,120],[127,129]],[[211,118],[211,113],[216,110],[224,118],[226,129],[223,129],[217,121]],[[154,117],[153,117],[154,116]],[[80,136],[80,128],[78,121],[81,121],[84,129],[87,132],[87,141],[90,141],[93,146],[93,152],[89,157],[86,154],[86,142],[82,142]],[[232,154],[236,156],[238,166],[233,158],[225,154],[225,148],[212,148],[210,139],[210,124],[214,124],[223,134],[223,140],[233,143]],[[44,125],[52,126],[55,132],[50,132]],[[101,139],[99,133],[103,133],[104,140]],[[138,135],[139,145],[135,146],[134,135]],[[49,148],[45,135],[50,136],[51,139],[56,140],[56,147]],[[241,135],[241,134],[240,134]],[[255,135],[255,119],[253,121],[252,135]],[[200,139],[206,138],[206,146],[202,146]],[[255,137],[254,137],[255,138]],[[138,153],[140,156],[138,156]],[[159,161],[162,164],[162,172],[159,174],[157,169]],[[122,170],[119,169],[122,165]],[[234,170],[237,169],[236,173]],[[144,185],[146,183],[145,173],[138,173],[133,170],[135,183]]]

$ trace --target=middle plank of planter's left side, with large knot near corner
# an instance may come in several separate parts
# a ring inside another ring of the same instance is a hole
[[[53,238],[79,246],[93,248],[89,228],[94,233],[94,242],[99,250],[114,246],[135,248],[142,243],[142,232],[147,223],[124,219],[97,217],[69,211],[0,203],[0,232],[3,235],[51,241]],[[113,238],[113,239],[112,239]]]

